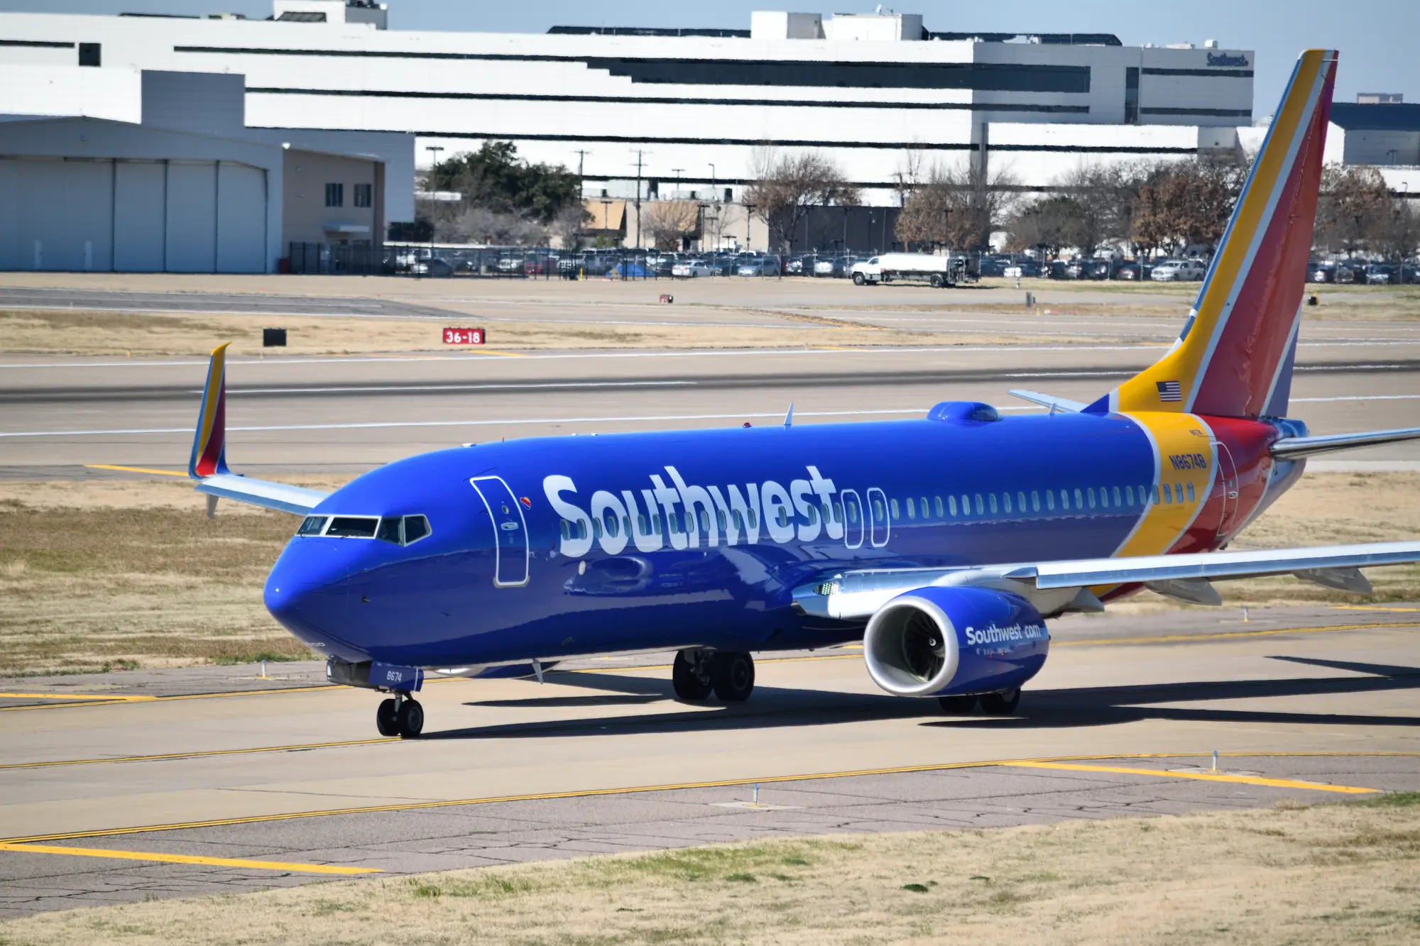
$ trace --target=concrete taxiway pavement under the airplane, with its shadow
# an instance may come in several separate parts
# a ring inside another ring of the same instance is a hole
[[[300,679],[34,682],[0,710],[0,910],[1414,791],[1417,624],[1411,605],[1075,618],[1011,717],[889,697],[853,649],[761,655],[738,706],[674,702],[646,658],[442,680],[415,741],[375,736],[375,695]]]

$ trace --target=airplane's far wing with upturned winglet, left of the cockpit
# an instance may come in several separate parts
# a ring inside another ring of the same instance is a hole
[[[195,487],[207,496],[207,516],[216,510],[217,499],[230,499],[248,506],[261,506],[281,513],[305,516],[329,493],[308,490],[285,483],[253,480],[227,469],[227,345],[212,349],[207,364],[207,384],[202,391],[197,429],[193,433],[187,476]]]

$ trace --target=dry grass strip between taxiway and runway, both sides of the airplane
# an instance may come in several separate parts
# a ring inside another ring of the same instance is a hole
[[[334,489],[337,480],[304,479]],[[78,673],[304,659],[261,604],[295,528],[186,480],[0,482],[0,673]],[[1311,474],[1235,547],[1390,541],[1420,534],[1420,474]],[[1420,567],[1372,568],[1365,598],[1294,578],[1220,582],[1231,607],[1420,598]],[[1180,605],[1145,592],[1113,609]]]

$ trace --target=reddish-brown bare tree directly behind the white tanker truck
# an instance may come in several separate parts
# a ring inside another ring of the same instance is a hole
[[[964,169],[933,165],[903,202],[895,233],[902,243],[984,247],[1014,203],[1014,183],[1005,170],[981,180],[976,162]]]

